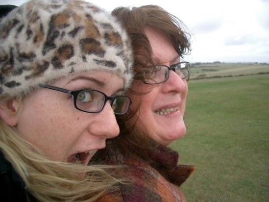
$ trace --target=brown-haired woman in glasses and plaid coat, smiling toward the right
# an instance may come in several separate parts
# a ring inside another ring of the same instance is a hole
[[[107,141],[96,159],[126,165],[114,177],[128,184],[98,201],[182,202],[178,187],[194,171],[177,165],[178,153],[167,146],[186,133],[183,120],[189,78],[190,51],[184,25],[164,9],[147,5],[112,12],[126,28],[134,51],[135,79],[128,96],[130,113],[119,118],[121,134]]]

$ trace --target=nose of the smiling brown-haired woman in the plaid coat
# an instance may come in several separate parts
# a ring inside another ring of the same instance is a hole
[[[169,71],[169,77],[163,84],[165,92],[182,93],[187,88],[186,79],[180,78],[173,69]]]

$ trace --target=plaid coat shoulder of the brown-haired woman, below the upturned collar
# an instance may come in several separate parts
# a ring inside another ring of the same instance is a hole
[[[170,183],[147,161],[137,156],[124,158],[124,165],[115,170],[113,177],[126,179],[126,183],[119,183],[117,191],[104,195],[98,202],[109,202],[110,198],[113,202],[183,201],[178,186]]]

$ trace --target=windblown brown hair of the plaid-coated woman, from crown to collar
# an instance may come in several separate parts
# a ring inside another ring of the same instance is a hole
[[[118,18],[131,39],[134,54],[135,80],[142,79],[140,73],[146,65],[154,65],[152,61],[152,49],[145,28],[151,28],[164,34],[171,41],[172,46],[180,57],[183,58],[183,55],[191,51],[190,34],[186,32],[187,27],[174,15],[157,5],[130,8],[118,7],[112,11],[112,15]],[[141,94],[141,92],[134,92],[132,89],[128,93]],[[126,115],[117,117],[120,126],[120,135],[112,140],[108,140],[107,147],[110,144],[116,145],[125,154],[136,153],[147,160],[153,160],[148,156],[148,149],[157,145],[145,134],[145,131],[147,131],[146,126],[143,132],[135,127],[133,120],[136,120],[135,122],[140,121],[136,115],[137,112],[139,112],[139,103],[135,106],[134,110],[129,110]],[[129,122],[130,119],[132,119],[132,124]],[[104,155],[101,152],[99,154],[99,157]]]

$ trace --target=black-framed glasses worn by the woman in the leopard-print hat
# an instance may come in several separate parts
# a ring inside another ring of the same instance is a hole
[[[97,90],[81,89],[71,91],[50,85],[41,85],[41,87],[72,95],[74,107],[88,113],[98,113],[102,111],[106,101],[110,101],[114,113],[121,115],[128,111],[131,103],[130,98],[126,96],[116,95],[110,97]]]

